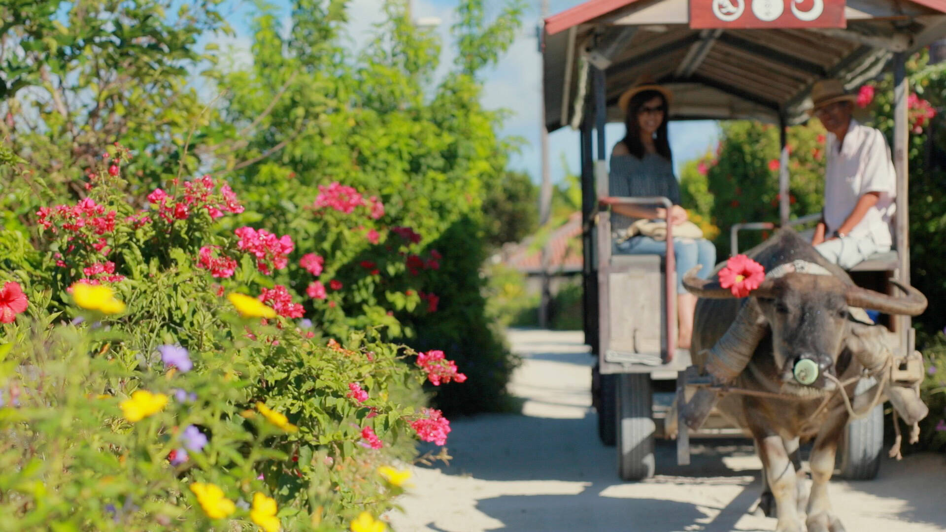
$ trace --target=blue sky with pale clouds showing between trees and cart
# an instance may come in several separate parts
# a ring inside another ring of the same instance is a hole
[[[486,0],[490,12],[498,12],[503,4],[499,0]],[[578,0],[549,0],[552,14],[578,5]],[[275,6],[286,13],[289,23],[289,1],[276,0]],[[349,34],[352,45],[363,46],[367,43],[371,28],[381,21],[381,0],[350,0],[348,3],[350,25]],[[436,31],[445,42],[444,57],[441,63],[448,65],[453,52],[448,45],[449,27],[454,18],[456,0],[412,0],[413,16],[439,17],[443,23]],[[232,46],[230,59],[237,65],[250,61],[248,51],[250,41],[249,24],[254,6],[250,2],[235,0],[224,8],[227,20],[236,30],[235,38],[214,39],[221,47]],[[502,133],[523,137],[527,144],[520,153],[514,154],[510,167],[522,169],[533,176],[535,182],[540,176],[539,161],[539,97],[541,95],[540,69],[541,58],[535,41],[535,25],[539,21],[539,0],[533,0],[525,9],[523,27],[516,42],[500,60],[499,64],[486,72],[482,103],[490,109],[506,108],[512,115],[506,120]],[[210,39],[208,39],[208,42]],[[623,134],[621,124],[609,124],[605,129],[608,146],[613,145]],[[674,150],[674,162],[679,168],[683,163],[704,154],[716,143],[717,128],[713,122],[672,122],[670,125],[671,146]],[[578,170],[578,133],[569,128],[562,128],[549,137],[549,158],[552,182],[559,182],[567,169]],[[563,164],[563,156],[565,163]]]

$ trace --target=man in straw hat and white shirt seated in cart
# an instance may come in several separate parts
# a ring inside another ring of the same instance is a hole
[[[890,250],[896,208],[890,149],[884,133],[852,117],[856,99],[838,80],[821,80],[812,88],[811,114],[828,130],[825,204],[812,244],[844,269]]]

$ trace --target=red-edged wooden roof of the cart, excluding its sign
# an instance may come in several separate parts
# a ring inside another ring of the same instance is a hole
[[[546,126],[581,114],[587,52],[609,62],[608,121],[622,121],[618,98],[647,74],[674,91],[673,119],[798,123],[816,80],[839,78],[850,89],[894,52],[946,37],[946,0],[848,0],[845,17],[846,28],[692,29],[689,0],[589,0],[545,19]]]

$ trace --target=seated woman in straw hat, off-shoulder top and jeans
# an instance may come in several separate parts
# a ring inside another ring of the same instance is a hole
[[[689,348],[696,296],[683,288],[683,275],[699,264],[703,267],[700,275],[708,277],[716,262],[716,248],[709,240],[702,238],[702,233],[692,222],[688,222],[687,211],[679,205],[680,187],[674,176],[673,157],[667,138],[667,111],[672,98],[673,95],[666,87],[644,79],[624,92],[618,100],[618,106],[625,113],[627,133],[611,152],[608,195],[664,196],[674,203],[669,213],[663,207],[613,205],[611,222],[616,237],[614,253],[665,255],[666,241],[638,234],[633,230],[639,225],[634,223],[634,219],[669,219],[674,224],[674,234],[678,235],[674,237],[679,324],[677,346]]]

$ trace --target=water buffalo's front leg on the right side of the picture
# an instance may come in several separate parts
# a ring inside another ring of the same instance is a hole
[[[844,532],[844,525],[834,515],[828,498],[828,481],[834,472],[834,454],[847,423],[848,414],[841,412],[822,425],[812,449],[812,492],[808,499],[808,532]]]

